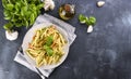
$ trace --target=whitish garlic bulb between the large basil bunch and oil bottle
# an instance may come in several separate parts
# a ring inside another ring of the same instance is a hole
[[[44,0],[44,3],[45,3],[44,5],[45,11],[55,9],[55,2],[52,0]]]

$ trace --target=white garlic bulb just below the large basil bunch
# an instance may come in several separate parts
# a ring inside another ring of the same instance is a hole
[[[19,32],[16,30],[15,31],[8,31],[8,30],[5,30],[5,37],[10,41],[16,40],[17,36],[19,36]]]

